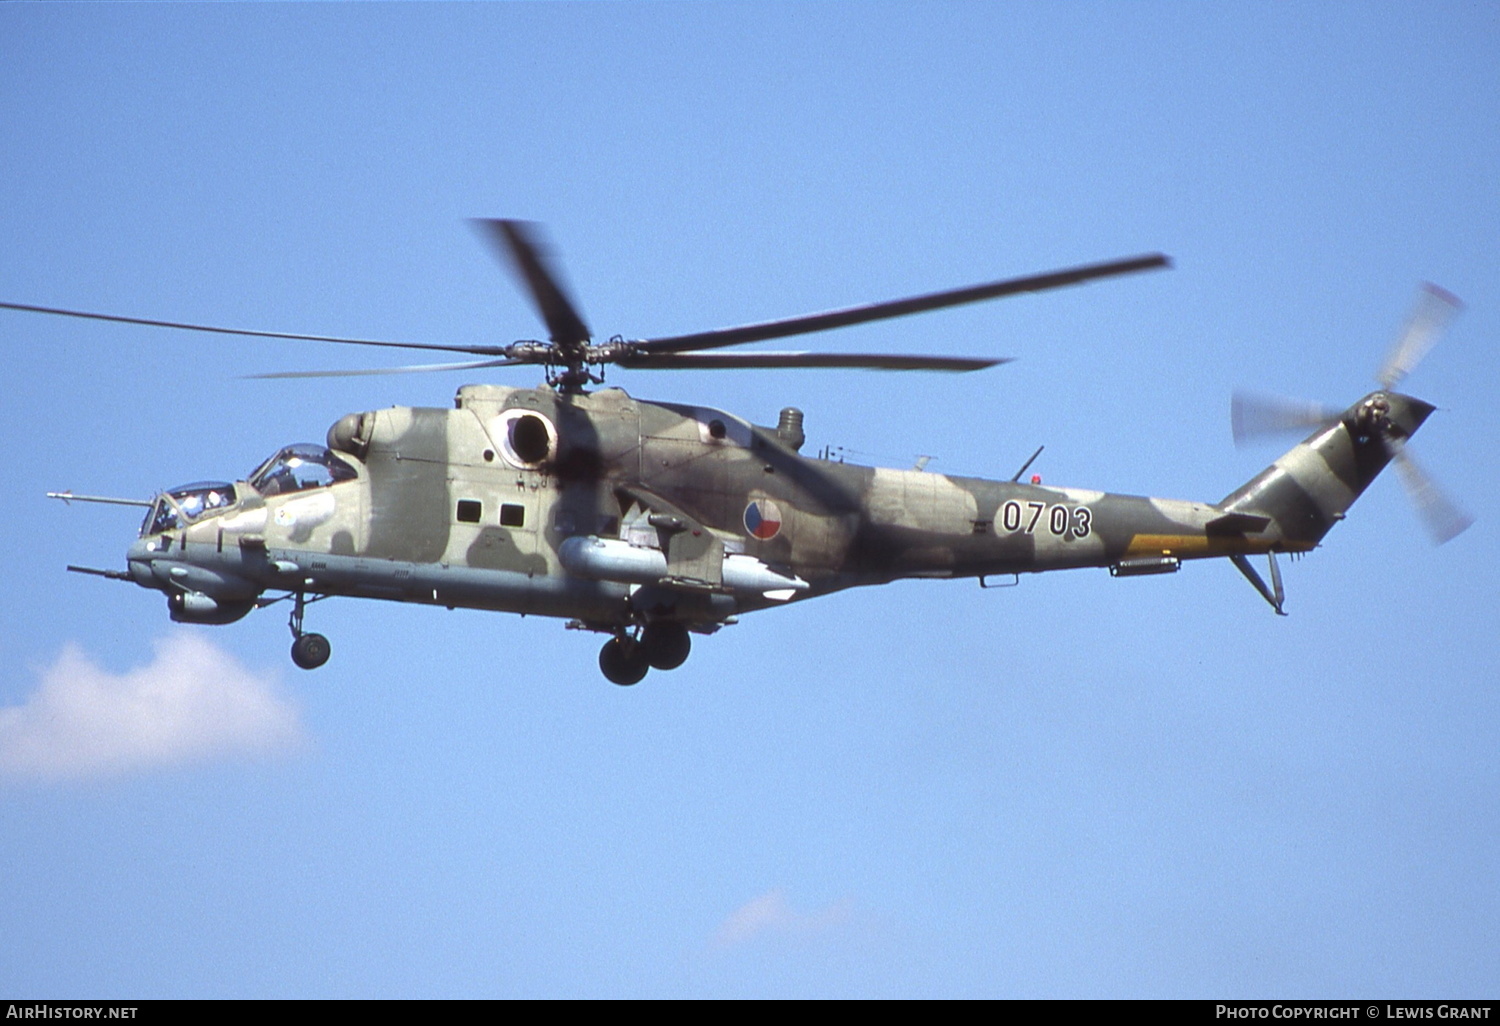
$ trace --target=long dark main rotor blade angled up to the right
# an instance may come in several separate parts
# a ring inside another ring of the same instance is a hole
[[[1014,296],[1017,292],[1041,292],[1048,288],[1077,285],[1096,278],[1113,278],[1114,274],[1131,274],[1136,272],[1168,266],[1170,261],[1161,254],[1131,256],[1130,260],[1116,260],[1107,264],[1089,264],[1086,267],[1072,267],[1068,270],[1048,272],[1046,274],[1011,278],[999,282],[988,282],[986,285],[969,285],[966,288],[952,288],[944,292],[888,300],[885,303],[870,303],[867,306],[849,306],[840,310],[789,316],[780,321],[762,321],[759,324],[744,324],[741,327],[694,332],[693,334],[672,334],[658,339],[644,339],[636,344],[636,350],[644,352],[686,352],[690,350],[717,350],[718,346],[741,345],[744,342],[764,342],[765,339],[784,339],[792,334],[807,334],[810,332],[826,332],[830,328],[848,327],[850,324],[884,321],[892,316],[906,316],[908,314],[939,310],[946,306],[978,303],[981,300]]]

